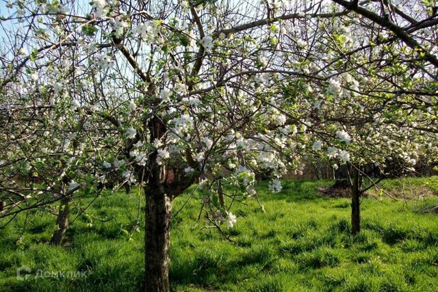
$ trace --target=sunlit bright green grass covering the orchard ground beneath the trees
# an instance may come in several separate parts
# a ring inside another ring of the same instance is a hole
[[[424,179],[411,179],[424,185]],[[430,180],[428,180],[430,181]],[[428,185],[437,187],[436,177]],[[400,180],[384,181],[400,189]],[[406,182],[404,182],[406,183]],[[410,202],[365,198],[363,230],[350,235],[346,198],[316,189],[330,181],[287,181],[280,194],[258,186],[255,200],[235,205],[237,224],[195,227],[200,199],[172,221],[170,280],[175,291],[438,291],[438,215],[419,214]],[[0,230],[0,291],[139,291],[144,272],[138,194],[105,194],[79,215],[64,247],[47,245],[54,216],[18,216]],[[177,211],[188,195],[175,200]],[[87,200],[85,200],[86,202]],[[438,204],[435,197],[424,204]],[[142,211],[141,211],[142,212]],[[140,230],[136,226],[140,224]],[[0,221],[0,224],[3,222]],[[83,271],[86,277],[17,280],[16,269]]]

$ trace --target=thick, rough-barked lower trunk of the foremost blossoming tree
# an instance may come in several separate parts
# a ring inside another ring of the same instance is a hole
[[[170,265],[170,210],[171,199],[161,185],[146,187],[145,290],[168,292]]]

